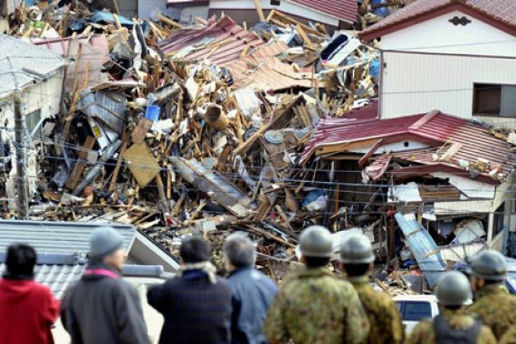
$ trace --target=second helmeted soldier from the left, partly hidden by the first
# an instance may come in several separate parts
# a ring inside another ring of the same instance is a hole
[[[375,291],[369,284],[368,272],[374,260],[373,248],[365,235],[352,235],[340,245],[340,268],[358,291],[371,326],[364,343],[403,343],[405,332],[397,305],[387,293]]]

